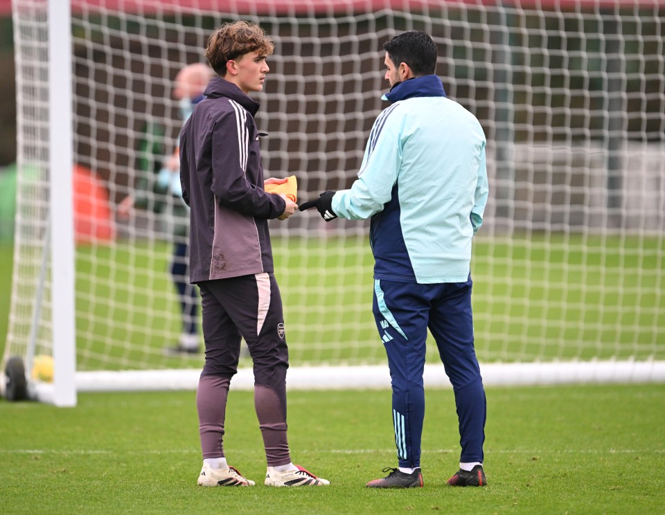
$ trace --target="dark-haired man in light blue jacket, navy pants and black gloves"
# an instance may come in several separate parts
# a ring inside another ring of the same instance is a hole
[[[471,240],[488,197],[486,138],[445,97],[436,45],[412,30],[383,45],[391,105],[376,119],[358,178],[301,204],[323,219],[371,217],[373,312],[388,354],[399,466],[368,487],[422,487],[427,328],[454,388],[461,443],[455,486],[484,486],[486,401],[473,339]],[[387,471],[388,469],[386,469]]]

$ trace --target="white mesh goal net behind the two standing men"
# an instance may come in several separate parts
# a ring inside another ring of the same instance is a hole
[[[48,2],[14,0],[13,17],[19,198],[5,360],[53,353],[48,242],[70,244],[48,222]],[[472,260],[486,382],[664,378],[660,2],[72,0],[71,48],[59,51],[71,62],[78,388],[102,388],[103,377],[109,388],[128,384],[121,377],[177,386],[178,373],[192,384],[201,368],[202,353],[164,352],[200,312],[181,314],[170,271],[185,236],[159,172],[182,125],[175,75],[204,62],[213,28],[237,19],[276,42],[254,97],[269,134],[263,162],[267,177],[296,175],[301,201],[353,182],[385,107],[382,42],[432,35],[447,95],[488,140],[490,199]],[[364,385],[369,372],[353,367],[379,365],[387,386],[367,225],[309,211],[271,231],[292,377],[348,367],[348,386]],[[438,363],[435,345],[427,363]]]

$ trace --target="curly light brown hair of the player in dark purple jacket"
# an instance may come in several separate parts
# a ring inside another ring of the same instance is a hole
[[[234,21],[222,25],[208,38],[206,59],[215,73],[224,77],[227,62],[236,57],[249,52],[271,55],[274,50],[275,42],[266,37],[258,25],[249,21]]]

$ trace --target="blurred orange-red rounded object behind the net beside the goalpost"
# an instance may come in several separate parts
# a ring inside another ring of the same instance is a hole
[[[74,165],[74,240],[76,243],[111,242],[116,237],[109,194],[95,174]]]

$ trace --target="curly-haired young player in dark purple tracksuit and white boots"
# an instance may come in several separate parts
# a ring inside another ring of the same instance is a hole
[[[217,73],[180,136],[183,198],[190,206],[190,279],[202,299],[206,361],[197,389],[202,486],[250,486],[229,467],[222,444],[229,383],[237,372],[240,335],[254,361],[254,406],[267,459],[265,484],[321,486],[290,457],[286,423],[286,345],[267,221],[298,207],[263,189],[254,121],[274,43],[244,21],[211,35],[206,57]]]

